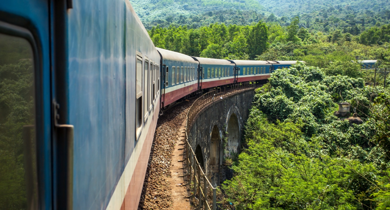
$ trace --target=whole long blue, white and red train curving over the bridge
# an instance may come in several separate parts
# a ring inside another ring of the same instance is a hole
[[[297,61],[154,46],[128,0],[0,3],[0,209],[137,209],[163,110]]]

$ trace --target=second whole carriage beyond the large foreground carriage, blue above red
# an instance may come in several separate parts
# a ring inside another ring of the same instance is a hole
[[[199,62],[200,66],[199,89],[213,88],[234,82],[234,64],[230,61],[215,58],[193,58]]]

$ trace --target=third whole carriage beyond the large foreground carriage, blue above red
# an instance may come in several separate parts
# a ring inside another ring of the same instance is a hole
[[[268,61],[230,60],[238,72],[236,82],[247,82],[269,78],[271,64]]]

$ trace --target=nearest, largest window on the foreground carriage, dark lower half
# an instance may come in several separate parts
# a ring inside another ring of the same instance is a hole
[[[139,133],[141,125],[142,125],[142,58],[137,55],[136,62],[136,128],[137,133]]]

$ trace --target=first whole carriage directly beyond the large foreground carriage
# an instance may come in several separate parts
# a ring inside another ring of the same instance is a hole
[[[161,108],[198,90],[198,64],[188,55],[157,47],[161,56]]]

